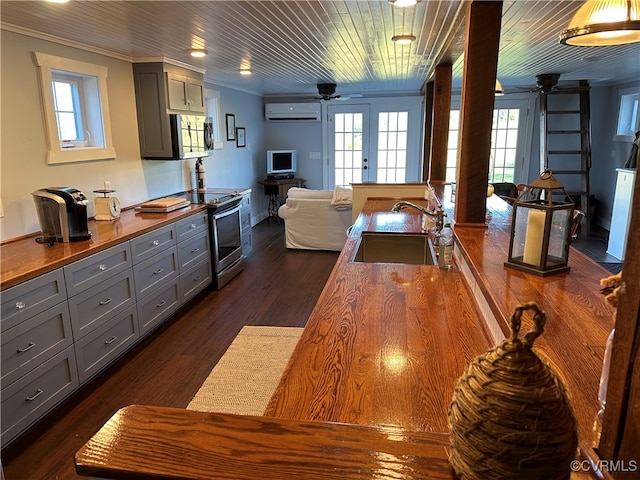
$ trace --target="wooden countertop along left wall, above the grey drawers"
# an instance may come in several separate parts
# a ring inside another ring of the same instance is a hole
[[[36,236],[7,241],[0,246],[0,288],[13,287],[206,209],[207,205],[192,204],[170,213],[139,213],[131,208],[123,210],[120,218],[111,222],[90,220],[90,240],[59,242],[52,246],[37,243]]]

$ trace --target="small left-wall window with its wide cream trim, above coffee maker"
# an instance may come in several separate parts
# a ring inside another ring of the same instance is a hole
[[[44,101],[47,163],[115,158],[107,68],[37,52],[34,56]]]

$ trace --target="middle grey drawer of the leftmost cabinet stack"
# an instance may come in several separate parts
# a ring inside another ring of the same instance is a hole
[[[73,343],[67,302],[2,333],[2,385],[29,373]]]

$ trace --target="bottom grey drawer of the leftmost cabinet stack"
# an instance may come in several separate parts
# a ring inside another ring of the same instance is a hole
[[[2,444],[24,431],[79,385],[73,347],[2,389]]]

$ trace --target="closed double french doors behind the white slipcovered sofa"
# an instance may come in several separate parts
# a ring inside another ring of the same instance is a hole
[[[331,104],[328,188],[420,181],[422,99]]]

